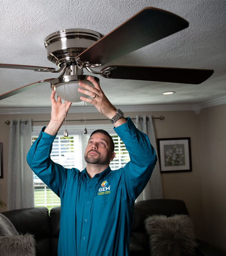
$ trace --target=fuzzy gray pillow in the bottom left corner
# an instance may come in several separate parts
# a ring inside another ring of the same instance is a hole
[[[0,256],[35,256],[35,239],[31,234],[0,237]]]

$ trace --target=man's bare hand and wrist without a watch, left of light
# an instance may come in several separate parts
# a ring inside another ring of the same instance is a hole
[[[55,100],[55,91],[52,91],[50,96],[51,101],[51,120],[47,127],[45,128],[44,132],[48,133],[50,135],[55,135],[58,130],[60,129],[65,114],[67,115],[67,112],[71,106],[71,102],[66,101],[65,104],[61,102],[61,98],[58,96],[57,101]]]

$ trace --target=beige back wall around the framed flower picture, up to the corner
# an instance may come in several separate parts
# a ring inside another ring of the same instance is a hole
[[[203,238],[202,190],[199,158],[198,116],[193,111],[159,113],[166,119],[155,121],[156,138],[191,137],[192,172],[162,173],[165,198],[184,200],[193,219],[196,235]],[[157,113],[155,113],[158,116]]]

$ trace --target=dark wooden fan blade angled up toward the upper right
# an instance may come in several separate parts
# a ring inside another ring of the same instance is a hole
[[[81,62],[104,65],[125,54],[172,35],[189,23],[183,18],[147,7],[102,37],[76,58]]]

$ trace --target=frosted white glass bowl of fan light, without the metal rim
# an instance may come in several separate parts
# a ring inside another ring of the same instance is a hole
[[[80,93],[78,91],[78,88],[80,87],[78,85],[79,82],[86,83],[90,86],[93,86],[93,84],[88,81],[70,81],[70,82],[65,82],[65,100],[69,102],[80,102],[80,97],[84,96],[86,98],[90,98],[88,95]],[[94,86],[93,86],[94,87]],[[80,87],[82,88],[82,87]],[[84,89],[84,88],[82,88]],[[64,83],[58,83],[55,85],[55,91],[56,93],[64,100]]]

